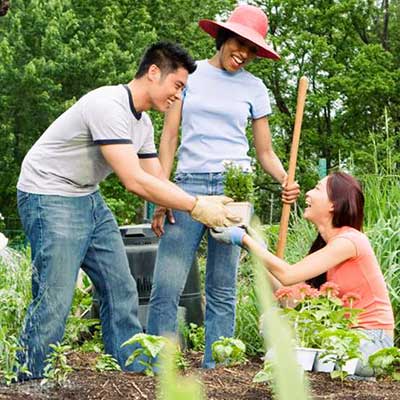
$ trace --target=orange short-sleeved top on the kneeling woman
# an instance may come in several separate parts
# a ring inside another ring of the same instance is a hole
[[[357,255],[331,268],[327,279],[339,285],[342,297],[355,292],[360,300],[353,306],[364,311],[358,315],[358,327],[364,329],[394,329],[393,310],[382,271],[368,238],[360,231],[345,226],[329,242],[338,238],[350,240]]]

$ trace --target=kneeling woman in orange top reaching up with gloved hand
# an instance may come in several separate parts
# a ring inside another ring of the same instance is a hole
[[[293,265],[266,250],[241,228],[216,228],[211,234],[254,252],[278,285],[307,281],[319,288],[328,279],[339,285],[340,296],[357,293],[360,300],[354,306],[363,312],[356,328],[370,339],[361,343],[361,352],[368,360],[375,351],[393,346],[394,318],[382,271],[361,232],[364,217],[361,185],[351,175],[335,172],[306,193],[306,204],[304,218],[316,226],[318,236],[310,253]],[[371,376],[373,371],[360,360],[356,374]]]

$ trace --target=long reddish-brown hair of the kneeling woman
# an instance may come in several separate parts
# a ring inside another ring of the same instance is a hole
[[[334,172],[328,177],[326,189],[328,198],[333,203],[332,225],[335,228],[350,226],[361,231],[364,219],[364,195],[360,182],[344,172]],[[318,234],[308,254],[325,246],[325,240]],[[307,281],[315,288],[319,288],[325,282],[326,272]]]

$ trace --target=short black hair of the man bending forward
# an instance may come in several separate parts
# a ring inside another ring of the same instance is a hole
[[[182,67],[189,74],[196,70],[196,63],[189,53],[181,46],[170,42],[158,42],[151,45],[140,61],[135,78],[141,78],[151,65],[157,65],[162,75],[168,75]]]

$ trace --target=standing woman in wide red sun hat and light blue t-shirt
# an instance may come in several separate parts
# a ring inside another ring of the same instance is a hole
[[[263,169],[282,184],[282,200],[296,200],[297,184],[286,184],[287,174],[276,156],[268,127],[271,113],[261,79],[245,70],[256,57],[279,59],[265,42],[268,19],[257,7],[241,5],[226,22],[201,20],[199,26],[215,38],[217,52],[197,62],[182,101],[168,111],[160,142],[160,161],[170,175],[182,125],[175,182],[194,195],[221,195],[224,161],[251,168],[246,126],[251,121],[257,158]],[[164,225],[164,217],[168,216]],[[236,273],[240,249],[218,243],[203,224],[184,213],[157,208],[153,229],[161,236],[153,276],[147,331],[176,332],[179,297],[185,286],[201,238],[208,237],[206,265],[205,368],[213,368],[211,345],[234,334]]]

